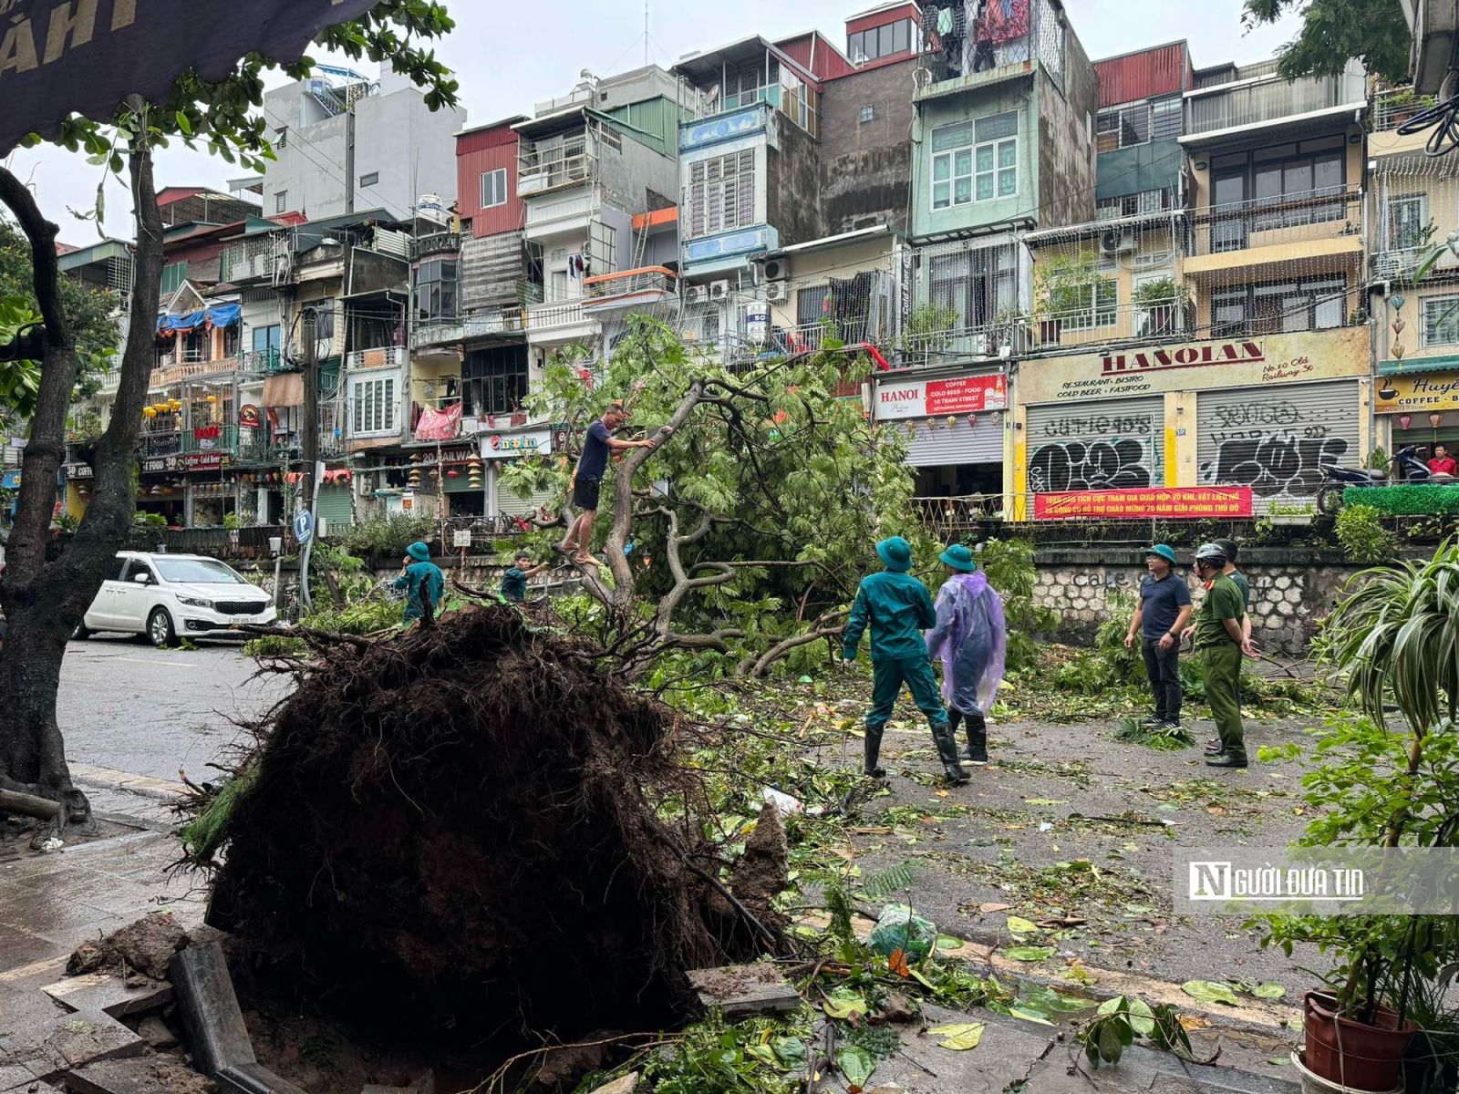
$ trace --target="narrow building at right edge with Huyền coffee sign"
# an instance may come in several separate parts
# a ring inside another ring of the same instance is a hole
[[[1459,165],[1424,153],[1428,133],[1398,133],[1431,105],[1412,88],[1374,86],[1367,153],[1374,445],[1424,458],[1434,445],[1459,451],[1459,258],[1449,247]]]

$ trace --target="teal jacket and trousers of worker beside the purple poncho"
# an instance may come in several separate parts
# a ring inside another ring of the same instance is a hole
[[[842,656],[856,659],[856,648],[871,627],[872,693],[867,732],[880,741],[891,719],[897,693],[906,684],[934,732],[947,725],[947,710],[926,653],[922,632],[937,626],[937,608],[926,585],[909,573],[872,573],[856,589],[856,602],[842,639]]]

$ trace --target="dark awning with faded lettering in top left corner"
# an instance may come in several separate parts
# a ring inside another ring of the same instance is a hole
[[[207,83],[261,53],[296,61],[327,26],[375,0],[0,0],[0,156],[71,114],[105,120],[128,95],[163,102],[193,69]],[[203,10],[200,10],[200,7]]]

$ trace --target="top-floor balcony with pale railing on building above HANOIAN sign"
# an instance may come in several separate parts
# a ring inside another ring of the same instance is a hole
[[[1182,144],[1208,143],[1231,130],[1297,121],[1323,112],[1345,114],[1338,108],[1367,104],[1363,73],[1355,70],[1296,83],[1287,83],[1277,74],[1275,61],[1231,71],[1237,79],[1186,92]]]

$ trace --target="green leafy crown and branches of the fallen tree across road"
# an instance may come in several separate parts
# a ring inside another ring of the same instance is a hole
[[[582,429],[630,400],[632,432],[657,443],[610,464],[597,521],[605,570],[581,567],[597,637],[630,670],[678,649],[732,653],[738,672],[763,674],[842,630],[877,538],[921,534],[905,436],[867,420],[861,354],[832,343],[730,369],[635,318],[601,376],[585,382],[579,366],[549,366],[534,413]],[[566,497],[572,470],[566,457],[522,461],[503,480]]]

